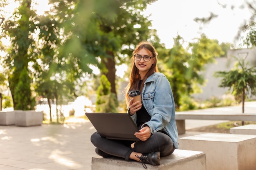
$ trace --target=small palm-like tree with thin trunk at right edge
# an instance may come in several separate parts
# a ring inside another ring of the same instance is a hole
[[[256,69],[243,59],[234,57],[237,62],[231,71],[217,71],[216,77],[222,77],[220,87],[232,88],[234,95],[242,96],[242,113],[245,111],[245,97],[256,94]]]

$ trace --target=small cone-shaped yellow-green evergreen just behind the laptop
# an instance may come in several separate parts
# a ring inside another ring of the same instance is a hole
[[[117,99],[115,94],[111,93],[110,88],[110,82],[106,75],[102,75],[97,90],[96,112],[117,113]]]

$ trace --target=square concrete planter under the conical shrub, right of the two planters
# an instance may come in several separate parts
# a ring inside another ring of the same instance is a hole
[[[40,126],[43,124],[43,112],[23,110],[15,112],[16,126]]]

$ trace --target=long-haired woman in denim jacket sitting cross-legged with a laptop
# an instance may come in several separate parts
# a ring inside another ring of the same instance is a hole
[[[168,79],[159,73],[157,52],[149,42],[141,42],[132,53],[130,82],[126,87],[128,114],[140,132],[135,136],[140,141],[111,140],[98,132],[91,136],[96,153],[102,157],[122,157],[125,160],[159,165],[160,157],[173,153],[178,146],[175,123],[175,103]],[[128,92],[141,91],[140,101],[133,102]]]

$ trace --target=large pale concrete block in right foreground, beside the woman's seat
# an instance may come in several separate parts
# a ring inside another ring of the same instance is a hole
[[[206,153],[207,170],[255,170],[255,135],[206,133],[179,141],[180,149]]]

